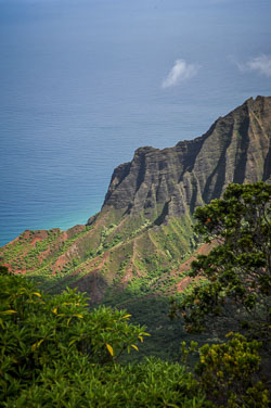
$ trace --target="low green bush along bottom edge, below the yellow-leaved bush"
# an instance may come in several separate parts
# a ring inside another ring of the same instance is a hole
[[[73,355],[44,368],[39,381],[7,407],[211,407],[203,395],[178,364],[147,359],[101,368]]]

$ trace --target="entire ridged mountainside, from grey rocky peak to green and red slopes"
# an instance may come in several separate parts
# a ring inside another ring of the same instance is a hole
[[[1,260],[50,291],[78,286],[93,302],[176,290],[181,264],[198,246],[195,207],[230,182],[270,180],[270,146],[271,97],[249,99],[201,138],[138,149],[114,170],[103,207],[87,226],[26,231],[0,250]]]

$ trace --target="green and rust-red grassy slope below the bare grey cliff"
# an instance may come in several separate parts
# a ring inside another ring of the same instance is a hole
[[[78,286],[100,302],[108,288],[120,292],[129,286],[143,294],[167,292],[175,283],[169,272],[196,246],[191,237],[189,217],[170,218],[158,227],[141,215],[121,218],[111,211],[100,213],[90,227],[25,231],[0,248],[0,260],[48,292]]]

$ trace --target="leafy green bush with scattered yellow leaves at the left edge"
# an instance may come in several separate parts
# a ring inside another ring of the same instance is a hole
[[[73,353],[89,362],[114,362],[124,350],[138,349],[147,335],[129,324],[124,310],[99,307],[89,313],[83,294],[67,290],[48,296],[18,276],[0,276],[0,393],[13,395],[31,383],[44,366]]]

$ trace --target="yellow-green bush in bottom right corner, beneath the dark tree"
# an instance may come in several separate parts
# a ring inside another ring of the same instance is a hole
[[[201,361],[196,365],[199,383],[208,397],[222,407],[268,408],[269,392],[258,381],[260,342],[247,342],[236,333],[228,343],[199,348]]]

